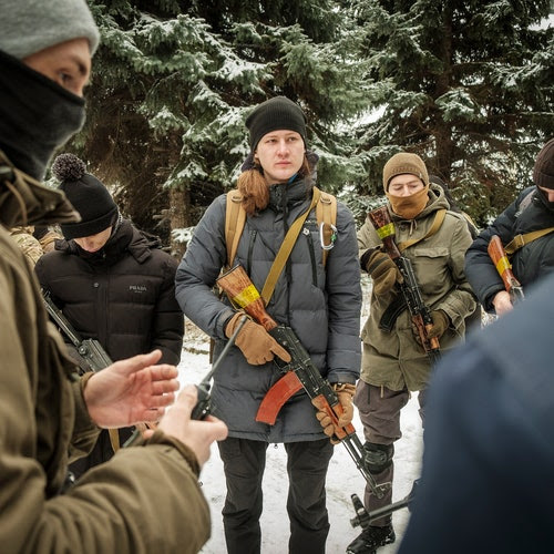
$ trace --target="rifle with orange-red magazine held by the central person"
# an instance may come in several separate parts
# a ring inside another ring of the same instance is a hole
[[[217,284],[236,306],[244,309],[246,314],[261,325],[290,353],[291,361],[288,363],[277,357],[274,359],[279,370],[285,375],[265,396],[256,414],[256,421],[273,425],[285,402],[304,388],[312,404],[319,411],[326,412],[331,419],[336,433],[334,438],[345,444],[371,492],[378,499],[382,499],[390,485],[378,485],[373,475],[369,472],[363,460],[363,445],[356,434],[353,425],[351,423],[343,428],[338,425],[343,409],[337,393],[332,390],[330,383],[321,377],[295,331],[290,327],[277,324],[267,314],[264,300],[242,266],[235,266],[222,275],[217,279]]]

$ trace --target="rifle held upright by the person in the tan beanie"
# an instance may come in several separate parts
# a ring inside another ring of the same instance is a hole
[[[402,256],[394,242],[396,229],[390,218],[389,211],[387,206],[381,206],[380,208],[369,212],[368,217],[373,224],[379,238],[382,240],[384,252],[390,256],[392,261],[394,261],[402,275],[403,283],[400,284],[400,290],[404,296],[412,321],[418,329],[421,343],[429,359],[434,363],[440,357],[440,345],[438,338],[429,338],[429,331],[433,327],[431,310],[423,301],[410,259]]]

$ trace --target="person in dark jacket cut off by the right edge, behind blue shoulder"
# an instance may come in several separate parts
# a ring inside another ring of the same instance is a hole
[[[465,253],[465,275],[490,314],[501,316],[512,309],[510,295],[486,250],[493,235],[499,235],[505,248],[515,236],[524,236],[525,245],[511,258],[512,269],[523,289],[554,270],[554,138],[543,146],[535,160],[533,183]],[[529,235],[540,230],[545,234],[537,238]]]

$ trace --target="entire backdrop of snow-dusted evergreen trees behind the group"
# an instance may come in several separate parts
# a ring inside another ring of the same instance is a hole
[[[126,215],[182,253],[234,186],[244,121],[284,94],[308,116],[321,186],[359,215],[383,163],[417,152],[481,225],[553,135],[548,0],[89,0],[102,34],[69,146]],[[181,229],[181,230],[178,230]]]

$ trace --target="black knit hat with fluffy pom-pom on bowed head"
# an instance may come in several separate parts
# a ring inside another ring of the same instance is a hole
[[[81,214],[79,223],[60,226],[68,240],[96,235],[115,223],[117,205],[103,183],[86,173],[82,160],[73,154],[60,154],[52,164],[52,173],[61,182],[60,191]]]

